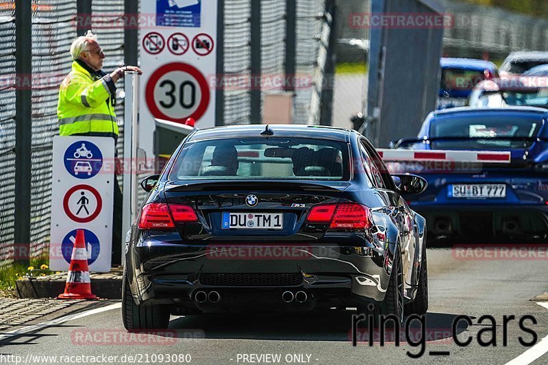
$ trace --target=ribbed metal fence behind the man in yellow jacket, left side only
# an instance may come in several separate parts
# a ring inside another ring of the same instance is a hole
[[[29,255],[46,255],[49,245],[51,209],[51,162],[53,136],[58,134],[57,103],[59,85],[71,70],[69,48],[77,36],[77,1],[33,0],[32,22],[32,86],[24,75],[16,74],[16,1],[2,3],[0,8],[0,175],[3,194],[0,198],[0,265],[10,264],[24,251],[14,252],[16,226],[15,195],[30,196]],[[95,0],[92,28],[99,36],[108,58],[105,68],[123,63],[123,32],[121,16],[123,0]],[[112,18],[108,19],[108,14]],[[117,24],[116,24],[117,22]],[[19,60],[18,62],[22,62]],[[24,191],[15,181],[16,90],[32,87],[31,153],[24,156],[30,165],[30,191]],[[123,127],[123,105],[117,105],[119,124]],[[121,145],[119,144],[119,147]],[[24,242],[19,242],[24,243]],[[14,257],[15,255],[15,257]]]

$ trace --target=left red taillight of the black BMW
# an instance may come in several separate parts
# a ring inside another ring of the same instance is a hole
[[[150,203],[142,207],[138,227],[139,229],[173,229],[174,221],[175,223],[196,222],[198,216],[190,205]]]

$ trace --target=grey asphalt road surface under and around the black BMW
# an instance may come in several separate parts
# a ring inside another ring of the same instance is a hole
[[[408,352],[419,353],[422,346],[413,347],[409,342],[401,342],[399,346],[390,342],[383,347],[379,342],[374,342],[373,347],[358,342],[353,347],[350,310],[294,316],[172,316],[170,329],[177,331],[122,340],[121,336],[127,334],[121,310],[114,304],[114,309],[86,313],[82,318],[51,327],[22,327],[32,331],[20,336],[0,336],[0,363],[11,359],[8,363],[21,360],[27,364],[124,364],[140,360],[143,364],[184,364],[190,360],[190,364],[286,364],[291,360],[294,364],[506,364],[529,349],[519,343],[520,336],[532,342],[531,334],[520,329],[519,318],[525,315],[536,318],[537,325],[527,321],[524,325],[534,330],[538,342],[548,335],[548,305],[542,307],[530,301],[548,291],[546,260],[468,260],[456,257],[455,251],[449,249],[429,249],[428,262],[430,308],[425,321],[430,340],[424,344],[424,355],[419,360],[412,360]],[[471,336],[467,347],[458,347],[451,337],[451,324],[458,315],[469,316],[472,321],[472,325],[462,322],[456,330],[461,342]],[[493,316],[496,321],[496,347],[482,347],[477,342],[479,331],[484,332],[481,338],[485,341],[494,337],[489,332],[493,325],[490,320],[478,323],[484,315]],[[504,315],[516,318],[506,326],[506,346]],[[417,331],[410,330],[410,340],[418,339]],[[179,337],[173,338],[174,333]],[[359,340],[364,339],[362,335],[359,330]],[[542,353],[547,348],[543,344],[534,351],[540,349]],[[449,355],[436,355],[432,351],[447,351]],[[173,358],[175,354],[177,357]],[[263,361],[256,361],[257,357],[251,354],[262,355]],[[279,354],[279,362],[277,358],[264,357],[266,354]],[[529,362],[519,360],[519,364]],[[547,363],[548,354],[533,362]]]

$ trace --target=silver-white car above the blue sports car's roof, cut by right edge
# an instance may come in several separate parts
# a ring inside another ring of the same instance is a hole
[[[467,103],[472,108],[532,106],[548,108],[548,84],[539,77],[511,77],[477,84]]]

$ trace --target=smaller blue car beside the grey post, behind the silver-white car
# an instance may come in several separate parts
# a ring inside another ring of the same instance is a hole
[[[493,62],[471,58],[442,58],[437,109],[466,104],[466,98],[480,81],[499,77]]]

